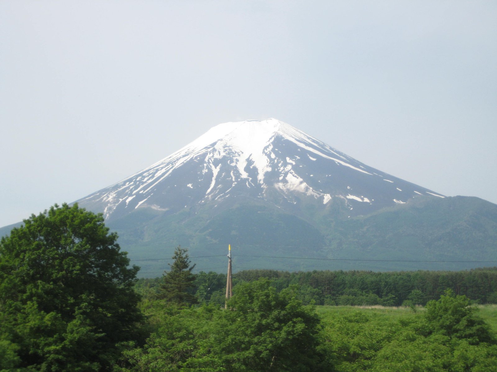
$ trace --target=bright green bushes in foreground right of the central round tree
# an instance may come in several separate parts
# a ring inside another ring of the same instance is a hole
[[[495,332],[450,291],[423,311],[319,309],[336,371],[497,371]]]

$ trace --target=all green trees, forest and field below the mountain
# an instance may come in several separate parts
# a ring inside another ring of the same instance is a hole
[[[1,239],[0,372],[497,370],[496,268],[248,270],[226,302],[187,249],[137,280],[116,240],[77,204]]]

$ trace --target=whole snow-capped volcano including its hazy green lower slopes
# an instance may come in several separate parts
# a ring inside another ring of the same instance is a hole
[[[228,244],[235,272],[497,264],[496,204],[388,175],[276,119],[214,126],[77,202],[103,214],[142,276],[178,245],[204,271],[225,270]]]

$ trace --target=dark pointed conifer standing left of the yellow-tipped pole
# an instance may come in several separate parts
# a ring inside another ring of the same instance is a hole
[[[190,266],[187,252],[188,249],[179,246],[174,250],[174,262],[168,264],[171,269],[163,274],[159,293],[159,298],[179,307],[197,304],[197,298],[191,293],[195,282],[191,270],[195,265]]]

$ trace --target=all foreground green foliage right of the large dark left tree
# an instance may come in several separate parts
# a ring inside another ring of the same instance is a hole
[[[497,371],[495,331],[465,296],[426,308],[303,306],[296,286],[241,283],[229,309],[144,302],[151,336],[119,371]]]

